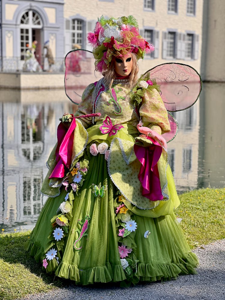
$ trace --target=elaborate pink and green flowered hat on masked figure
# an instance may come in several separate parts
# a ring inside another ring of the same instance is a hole
[[[88,33],[88,41],[94,47],[95,69],[104,72],[108,69],[112,56],[121,57],[134,53],[137,59],[144,58],[146,52],[155,48],[140,34],[134,16],[118,19],[98,18],[94,33]]]

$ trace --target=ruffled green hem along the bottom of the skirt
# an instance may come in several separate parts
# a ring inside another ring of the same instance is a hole
[[[41,247],[29,240],[25,245],[25,250],[30,252],[30,256],[33,256],[36,262],[42,262],[43,249]],[[81,270],[77,266],[70,265],[67,262],[60,262],[57,266],[53,264],[52,269],[49,269],[48,272],[55,272],[55,275],[58,277],[74,280],[78,285],[120,281],[121,286],[129,286],[131,283],[135,285],[140,281],[167,281],[176,279],[179,275],[197,274],[195,268],[198,265],[199,261],[196,255],[190,252],[185,258],[180,260],[180,263],[138,263],[137,273],[130,280],[127,280],[122,265],[112,265],[110,262],[107,262],[105,266],[92,267],[86,270]]]

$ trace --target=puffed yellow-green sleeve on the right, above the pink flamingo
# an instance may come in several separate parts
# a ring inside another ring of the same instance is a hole
[[[143,126],[164,134],[170,131],[170,123],[165,105],[158,91],[153,88],[146,90],[139,109]]]

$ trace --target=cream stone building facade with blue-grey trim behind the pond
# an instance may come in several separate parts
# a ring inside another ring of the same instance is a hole
[[[93,31],[98,17],[131,14],[141,35],[155,45],[155,51],[140,62],[141,70],[177,61],[199,71],[202,11],[203,0],[92,0],[85,4],[83,0],[2,0],[1,63],[16,58],[20,69],[26,44],[34,40],[38,41],[36,55],[42,65],[46,40],[56,61],[72,50],[73,44],[91,50],[86,35]]]

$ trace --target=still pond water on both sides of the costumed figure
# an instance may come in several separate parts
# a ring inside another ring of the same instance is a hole
[[[4,232],[34,227],[46,201],[40,188],[56,143],[58,119],[76,109],[64,91],[53,91],[54,97],[41,90],[28,93],[30,97],[24,98],[32,104],[21,97],[19,102],[7,102],[5,97],[0,101],[0,231]],[[178,193],[225,186],[224,95],[224,84],[205,83],[199,100],[174,114],[179,131],[168,144],[168,155]]]

